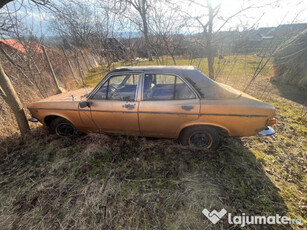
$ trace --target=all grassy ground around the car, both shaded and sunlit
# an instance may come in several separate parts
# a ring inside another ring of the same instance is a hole
[[[225,61],[218,80],[242,88],[238,83],[247,82],[255,58]],[[200,69],[206,72],[204,67],[202,60]],[[89,74],[89,85],[101,79],[99,71]],[[172,140],[98,134],[58,138],[43,129],[26,141],[3,140],[0,229],[212,228],[201,213],[205,207],[233,214],[286,214],[302,218],[306,226],[306,120],[302,106],[280,97],[268,80],[261,77],[249,93],[276,106],[277,134],[227,139],[217,152],[188,149]],[[214,227],[229,228],[226,222]]]

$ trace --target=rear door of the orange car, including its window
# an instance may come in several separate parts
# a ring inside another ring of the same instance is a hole
[[[199,112],[199,98],[180,76],[143,75],[139,105],[141,135],[176,137],[180,127],[199,118]]]

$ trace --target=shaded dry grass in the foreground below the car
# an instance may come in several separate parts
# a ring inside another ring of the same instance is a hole
[[[211,152],[172,140],[59,138],[40,128],[1,141],[0,171],[1,229],[240,229],[226,217],[213,225],[201,212],[288,211],[261,162],[234,138]]]

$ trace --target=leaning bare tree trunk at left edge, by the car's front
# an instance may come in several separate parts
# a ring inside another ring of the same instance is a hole
[[[30,127],[25,115],[25,112],[22,108],[22,104],[19,100],[17,93],[14,90],[14,87],[3,70],[2,64],[0,62],[0,95],[5,100],[5,102],[10,106],[12,109],[20,133],[24,136],[26,133],[30,131]]]

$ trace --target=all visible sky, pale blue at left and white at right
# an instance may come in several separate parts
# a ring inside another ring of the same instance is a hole
[[[88,0],[84,1],[88,2]],[[201,5],[206,2],[205,0],[173,1],[179,4],[181,8],[192,17],[201,16],[206,12],[206,9]],[[191,4],[191,1],[195,3]],[[251,5],[254,8],[243,11],[231,19],[222,30],[242,30],[243,28],[274,27],[280,24],[289,23],[307,23],[307,0],[212,0],[213,6],[217,6],[218,4],[221,4],[221,11],[219,17],[216,18],[214,29],[219,28],[223,20],[229,16]],[[14,11],[14,8],[19,9],[19,6],[20,4],[18,1],[15,1],[15,3],[8,4],[8,9]],[[30,27],[34,34],[38,36],[44,34],[45,37],[54,35],[54,32],[50,30],[49,22],[51,16],[46,11],[42,12],[36,8],[30,7],[27,0],[23,1],[23,6],[18,10],[18,15],[22,18],[22,23]],[[204,19],[204,21],[206,21],[206,19]],[[199,24],[192,23],[191,27],[186,28],[186,30],[198,32],[198,26]],[[131,30],[135,32],[135,28]]]

